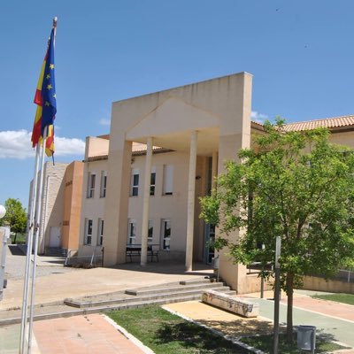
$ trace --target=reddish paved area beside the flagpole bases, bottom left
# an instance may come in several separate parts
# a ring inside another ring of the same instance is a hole
[[[34,333],[45,354],[143,353],[99,314],[36,321]]]

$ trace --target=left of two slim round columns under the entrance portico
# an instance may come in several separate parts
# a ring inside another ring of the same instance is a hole
[[[149,233],[149,201],[150,201],[150,176],[152,161],[152,138],[149,137],[146,147],[145,178],[142,194],[142,253],[140,266],[146,266],[148,260],[148,233]]]

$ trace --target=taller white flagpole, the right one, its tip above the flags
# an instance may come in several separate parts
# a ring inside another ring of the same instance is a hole
[[[57,21],[58,18],[53,19],[53,29],[54,29],[54,38],[53,46],[55,44],[55,35],[57,32]],[[34,250],[34,260],[32,267],[32,282],[31,282],[31,299],[29,306],[29,325],[28,325],[28,342],[27,342],[27,354],[31,354],[32,349],[32,330],[33,330],[33,318],[34,318],[34,305],[35,305],[35,272],[37,266],[37,253],[38,253],[38,238],[40,233],[40,228],[42,225],[42,185],[43,185],[43,171],[44,171],[44,157],[46,149],[46,141],[49,135],[48,125],[44,127],[43,130],[43,140],[42,140],[42,161],[41,161],[41,173],[39,176],[39,188],[38,188],[38,197],[36,198],[36,212],[35,212],[35,250]],[[42,230],[44,232],[44,229]]]

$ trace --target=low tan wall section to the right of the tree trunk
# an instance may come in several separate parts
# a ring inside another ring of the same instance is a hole
[[[306,290],[327,291],[330,293],[354,294],[354,283],[345,281],[326,281],[324,278],[305,276],[303,278]]]

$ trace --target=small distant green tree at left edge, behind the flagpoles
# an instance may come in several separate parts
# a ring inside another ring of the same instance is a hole
[[[26,209],[22,207],[19,199],[9,198],[4,205],[6,214],[3,219],[0,219],[1,225],[8,223],[11,231],[15,233],[14,243],[18,233],[26,232],[27,213]]]

